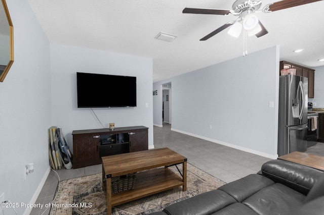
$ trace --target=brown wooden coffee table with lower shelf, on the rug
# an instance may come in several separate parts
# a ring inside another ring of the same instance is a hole
[[[182,164],[182,178],[168,169]],[[163,168],[160,168],[163,167]],[[136,173],[134,189],[111,194],[111,178]],[[187,189],[187,158],[169,148],[159,148],[102,157],[102,186],[111,207],[182,186]]]

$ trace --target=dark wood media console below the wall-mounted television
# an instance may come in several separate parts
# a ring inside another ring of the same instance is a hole
[[[76,130],[72,135],[74,169],[101,164],[103,156],[148,150],[144,126]]]

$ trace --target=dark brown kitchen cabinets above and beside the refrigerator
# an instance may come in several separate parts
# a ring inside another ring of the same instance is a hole
[[[304,76],[308,78],[308,98],[314,97],[314,81],[315,81],[315,70],[303,67],[297,64],[289,63],[287,61],[280,61],[279,64],[279,75],[282,69],[296,69],[296,75]]]

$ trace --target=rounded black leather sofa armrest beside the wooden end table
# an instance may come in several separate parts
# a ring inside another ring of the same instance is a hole
[[[262,165],[262,175],[284,184],[304,195],[323,175],[323,172],[287,160],[270,160]]]

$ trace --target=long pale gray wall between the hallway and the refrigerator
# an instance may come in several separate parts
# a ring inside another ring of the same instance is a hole
[[[172,130],[275,158],[278,52],[274,46],[153,83],[159,90],[172,82]]]

